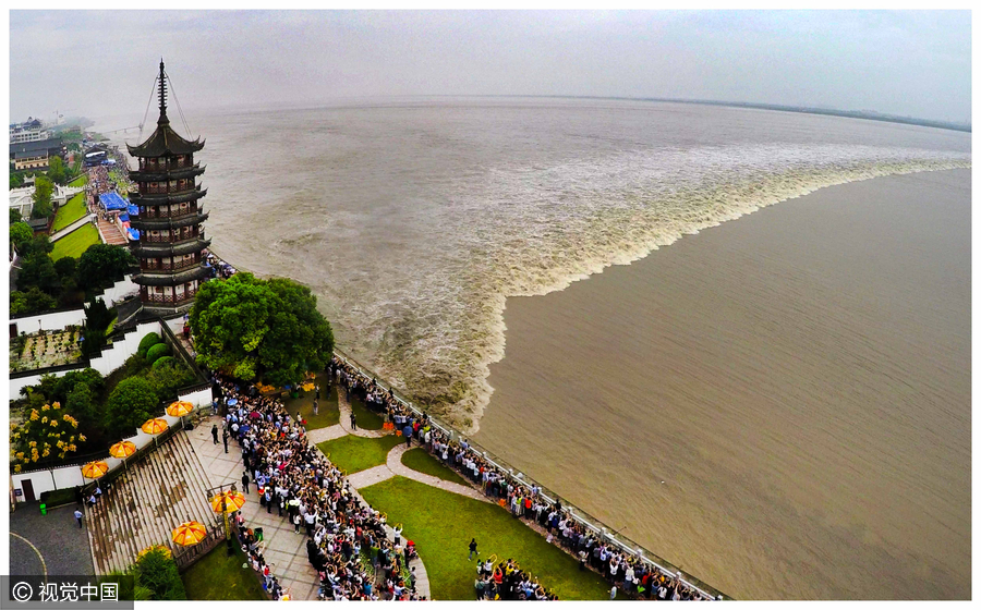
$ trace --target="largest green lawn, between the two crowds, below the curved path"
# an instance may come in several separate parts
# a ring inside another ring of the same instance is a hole
[[[467,560],[476,538],[481,558],[513,558],[522,570],[555,591],[559,599],[609,599],[600,575],[579,571],[579,562],[498,507],[422,483],[395,477],[361,489],[371,505],[401,523],[415,542],[429,575],[433,599],[474,599],[476,563]]]

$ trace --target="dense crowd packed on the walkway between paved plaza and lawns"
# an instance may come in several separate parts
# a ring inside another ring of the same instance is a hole
[[[305,536],[311,565],[320,580],[322,599],[419,599],[408,568],[414,545],[386,537],[385,515],[355,497],[341,472],[306,438],[278,400],[240,391],[218,377],[215,394],[225,405],[225,427],[242,448],[244,491],[261,507]],[[228,405],[229,399],[237,402]],[[262,564],[258,546],[256,564]],[[275,577],[274,577],[275,578]]]

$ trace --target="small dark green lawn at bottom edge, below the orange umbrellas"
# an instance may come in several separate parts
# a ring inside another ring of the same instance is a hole
[[[219,545],[181,574],[187,599],[268,599],[252,568],[242,568],[244,562],[241,550],[228,557],[225,545]]]

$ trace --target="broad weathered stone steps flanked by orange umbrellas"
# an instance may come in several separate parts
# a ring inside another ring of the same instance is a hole
[[[210,487],[183,431],[131,464],[95,508],[85,509],[96,573],[125,570],[153,545],[180,550],[170,533],[186,521],[214,526],[216,515],[205,495]]]

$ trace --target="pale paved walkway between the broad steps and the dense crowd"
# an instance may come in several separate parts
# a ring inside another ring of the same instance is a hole
[[[229,452],[225,453],[225,447],[220,442],[215,444],[211,439],[211,425],[220,426],[220,417],[209,417],[187,432],[187,436],[211,479],[211,486],[234,483],[243,491],[242,450],[238,443],[230,441]],[[245,517],[246,527],[263,528],[263,557],[283,590],[289,591],[293,599],[316,599],[319,581],[306,557],[306,530],[301,529],[296,534],[286,516],[279,516],[277,511],[267,513],[259,505],[255,485],[249,486],[242,516]]]

